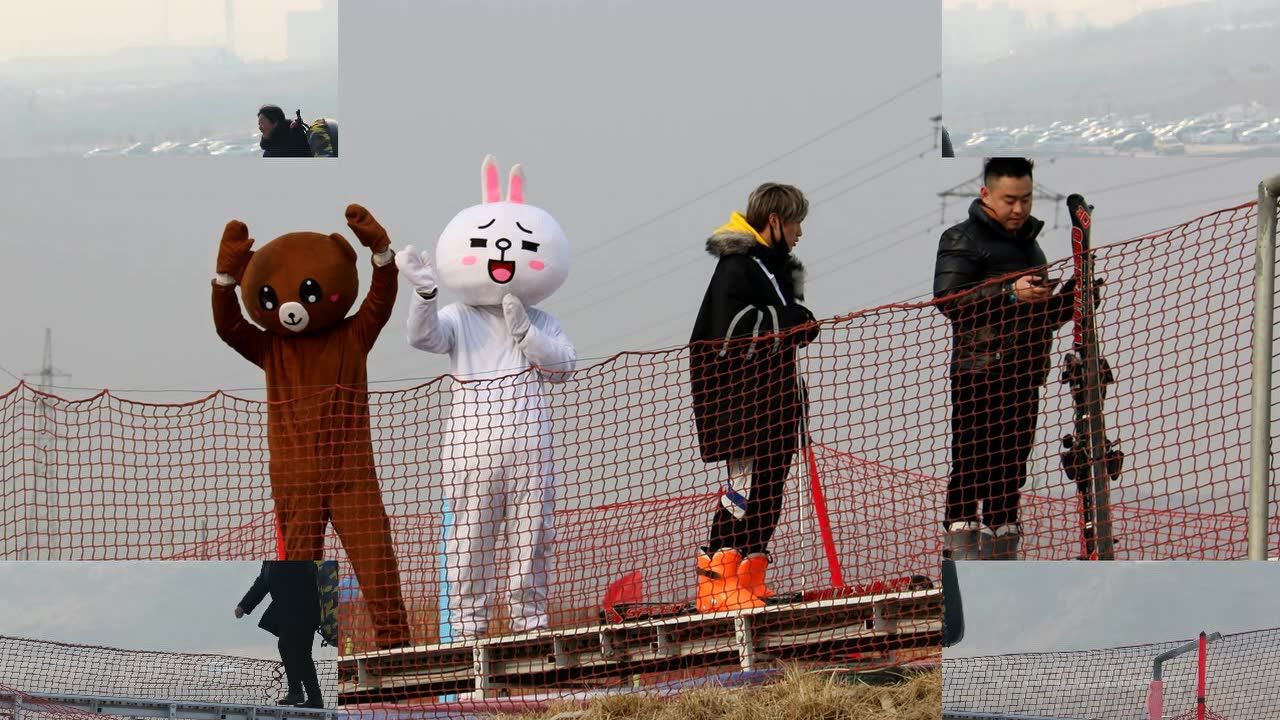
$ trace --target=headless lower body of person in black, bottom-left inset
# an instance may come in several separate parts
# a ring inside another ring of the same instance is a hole
[[[324,707],[315,661],[311,659],[311,646],[316,629],[320,628],[320,591],[316,588],[315,562],[262,562],[253,585],[236,606],[236,618],[252,612],[268,594],[271,596],[271,603],[266,606],[257,626],[280,638],[280,661],[289,684],[288,694],[278,705]]]

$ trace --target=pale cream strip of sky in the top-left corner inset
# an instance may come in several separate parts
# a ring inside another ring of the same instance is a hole
[[[236,50],[280,60],[285,18],[321,0],[236,0]],[[99,55],[134,45],[220,45],[224,0],[0,0],[0,60]]]

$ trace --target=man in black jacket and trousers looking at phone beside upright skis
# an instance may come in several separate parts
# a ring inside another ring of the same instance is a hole
[[[1036,439],[1053,332],[1071,319],[1075,281],[1046,273],[1032,217],[1032,161],[991,158],[969,218],[938,242],[933,296],[951,320],[952,560],[1018,560],[1019,493]]]

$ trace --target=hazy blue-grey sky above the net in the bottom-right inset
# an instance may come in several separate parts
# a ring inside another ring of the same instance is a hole
[[[1280,562],[960,562],[957,574],[965,634],[946,657],[1280,626]]]

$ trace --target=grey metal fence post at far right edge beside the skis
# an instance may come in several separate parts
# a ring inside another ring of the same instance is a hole
[[[1253,272],[1253,407],[1249,414],[1249,560],[1267,559],[1271,483],[1271,351],[1275,304],[1276,199],[1280,176],[1258,183],[1258,247]]]

